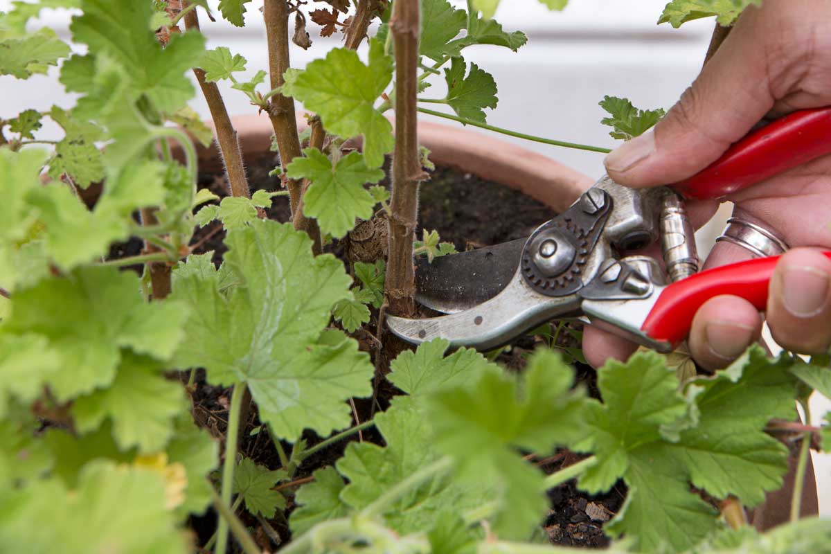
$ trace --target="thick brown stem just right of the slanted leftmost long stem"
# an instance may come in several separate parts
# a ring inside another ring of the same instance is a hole
[[[272,90],[283,86],[283,74],[290,67],[288,58],[288,6],[286,0],[265,0],[263,5],[265,34],[268,42],[268,73]],[[282,94],[275,94],[268,101],[268,118],[277,139],[280,164],[285,171],[292,160],[302,156],[300,137],[297,135],[297,120],[294,115],[294,99]],[[292,207],[294,228],[306,231],[312,241],[320,244],[320,229],[314,219],[306,218],[297,209],[302,196],[302,184],[294,179],[286,179],[286,186]],[[319,248],[319,247],[318,247]]]

